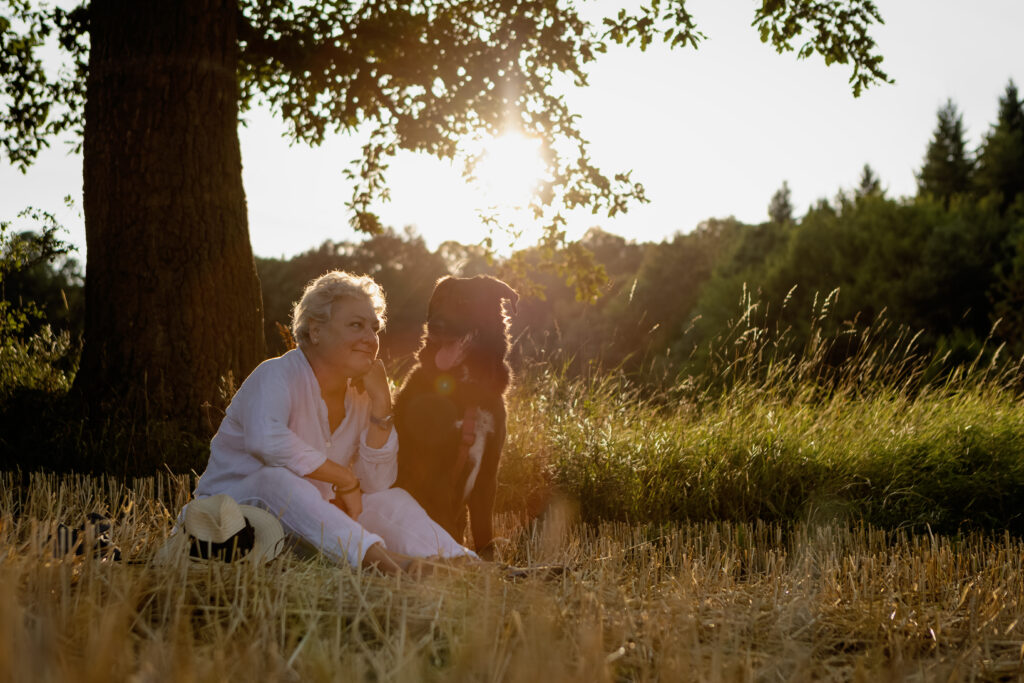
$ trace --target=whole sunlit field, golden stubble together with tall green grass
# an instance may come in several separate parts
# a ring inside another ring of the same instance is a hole
[[[572,379],[555,357],[521,370],[499,552],[560,573],[440,566],[414,581],[294,552],[154,566],[190,476],[7,474],[3,676],[1024,676],[1016,366],[987,353],[936,379],[879,328],[837,362],[850,333],[793,355],[746,325],[707,376],[657,391],[614,371]],[[54,525],[89,512],[113,519],[120,561],[54,553]]]

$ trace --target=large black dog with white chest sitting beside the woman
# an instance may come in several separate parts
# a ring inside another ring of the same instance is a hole
[[[462,542],[466,508],[477,553],[489,558],[498,461],[511,381],[508,318],[519,295],[495,278],[442,278],[430,297],[419,365],[394,407],[398,480]]]

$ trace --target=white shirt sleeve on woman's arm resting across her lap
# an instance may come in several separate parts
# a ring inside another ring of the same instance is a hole
[[[246,451],[267,466],[287,467],[299,476],[323,465],[327,453],[310,446],[288,427],[293,407],[287,380],[276,373],[252,379],[257,381],[239,389],[245,395],[234,398],[242,398],[238,419]]]

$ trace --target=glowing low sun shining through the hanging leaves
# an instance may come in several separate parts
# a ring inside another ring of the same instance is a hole
[[[482,143],[473,177],[486,208],[509,212],[529,205],[545,170],[539,138],[505,133]]]

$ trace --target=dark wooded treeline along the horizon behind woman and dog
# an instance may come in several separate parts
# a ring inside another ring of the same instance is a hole
[[[383,351],[398,374],[412,361],[433,284],[449,273],[490,273],[520,289],[525,296],[513,327],[519,361],[558,353],[570,373],[599,364],[677,382],[705,374],[752,321],[797,351],[812,331],[822,334],[817,317],[825,310],[835,328],[825,333],[884,318],[894,338],[910,331],[918,352],[947,361],[973,359],[986,342],[1020,354],[1024,103],[1012,81],[977,150],[965,139],[956,105],[950,100],[938,111],[918,183],[914,197],[888,197],[865,164],[851,188],[820,199],[803,216],[794,214],[783,182],[769,220],[756,225],[711,219],[643,244],[592,228],[581,245],[602,284],[601,295],[586,300],[544,247],[488,258],[482,247],[455,242],[430,250],[409,228],[326,242],[291,259],[258,258],[267,350],[286,348],[279,326],[287,327],[303,286],[343,268],[372,274],[387,292]],[[18,227],[26,225],[32,229]],[[83,275],[55,231],[51,216],[34,212],[0,233],[4,395],[26,383],[26,371],[17,380],[14,368],[31,365],[32,349],[38,355],[46,347],[48,367],[61,370],[40,371],[37,384],[66,387],[74,372]]]

